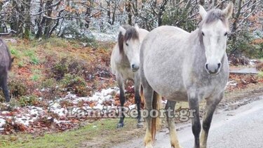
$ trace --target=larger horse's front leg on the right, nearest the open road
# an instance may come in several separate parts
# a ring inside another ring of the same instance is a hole
[[[201,148],[206,147],[206,143],[208,140],[208,131],[210,129],[211,121],[213,119],[213,114],[215,112],[215,108],[222,100],[223,96],[224,92],[221,93],[219,97],[210,97],[206,100],[205,115],[203,116],[203,128],[201,132]]]

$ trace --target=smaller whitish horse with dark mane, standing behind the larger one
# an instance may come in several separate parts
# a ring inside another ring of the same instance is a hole
[[[120,88],[121,112],[124,112],[124,83],[130,79],[134,81],[135,86],[135,102],[137,104],[138,123],[137,127],[142,127],[140,121],[140,76],[137,70],[140,66],[140,46],[142,40],[149,32],[146,29],[140,29],[137,25],[131,27],[129,25],[119,28],[118,43],[112,51],[111,67],[113,74],[116,75],[116,81]],[[121,119],[117,128],[124,126],[124,114],[121,114]]]

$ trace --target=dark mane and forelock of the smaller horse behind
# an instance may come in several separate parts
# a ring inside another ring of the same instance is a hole
[[[124,29],[126,29],[126,33],[122,34],[119,32],[118,36],[118,44],[119,44],[119,50],[120,53],[123,54],[123,43],[130,40],[130,39],[139,39],[139,33],[135,29],[135,27],[132,27],[130,25],[124,25]]]

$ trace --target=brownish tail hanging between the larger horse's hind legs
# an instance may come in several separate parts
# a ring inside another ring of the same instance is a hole
[[[153,117],[151,120],[151,138],[152,138],[152,141],[154,141],[156,130],[159,129],[160,124],[161,124],[161,120],[159,118],[159,110],[161,109],[161,95],[156,93],[156,91],[154,91],[154,95],[153,95],[152,109],[156,110],[157,115],[158,115],[157,116],[155,112],[154,116],[157,116],[157,117],[156,118]]]

